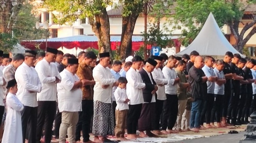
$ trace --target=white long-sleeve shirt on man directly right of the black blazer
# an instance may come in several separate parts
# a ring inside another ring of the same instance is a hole
[[[168,79],[165,79],[165,77],[163,76],[162,70],[160,68],[155,68],[151,73],[158,87],[158,90],[156,91],[157,99],[166,100],[165,86],[159,86],[159,85],[167,84]]]

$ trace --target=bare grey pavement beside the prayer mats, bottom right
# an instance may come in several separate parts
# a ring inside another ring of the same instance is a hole
[[[175,143],[239,143],[239,141],[243,138],[244,134],[245,132],[238,132],[238,134],[222,134],[209,138],[176,141]]]

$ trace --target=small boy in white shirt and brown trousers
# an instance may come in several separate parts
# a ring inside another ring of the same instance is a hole
[[[114,92],[114,98],[116,99],[116,127],[115,135],[118,140],[126,140],[124,137],[125,134],[125,125],[127,118],[127,111],[129,109],[129,99],[126,95],[126,84],[127,80],[125,77],[120,77],[118,79],[118,88]]]

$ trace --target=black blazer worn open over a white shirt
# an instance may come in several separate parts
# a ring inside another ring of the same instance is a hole
[[[147,71],[145,71],[144,69],[140,70],[140,75],[142,77],[143,82],[146,84],[145,89],[142,90],[144,102],[150,103],[152,100],[151,92],[154,90],[154,86],[156,85],[156,82],[154,81],[151,74],[151,79],[153,80],[153,84],[151,83],[151,80],[149,79],[149,75],[147,74]]]

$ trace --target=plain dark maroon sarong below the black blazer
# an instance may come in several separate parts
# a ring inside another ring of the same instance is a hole
[[[138,130],[154,130],[155,118],[156,118],[156,102],[142,104],[142,111],[138,121]]]

